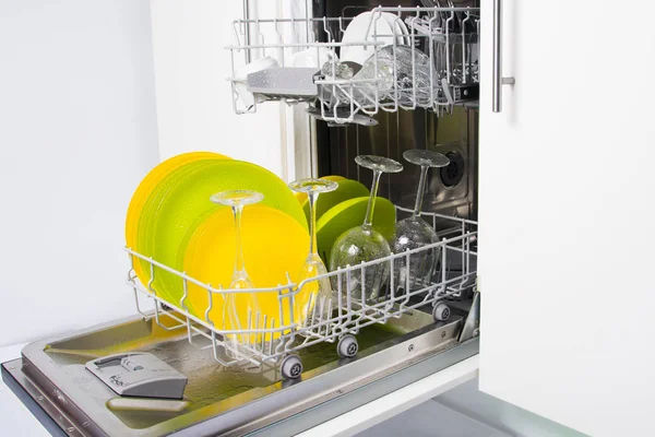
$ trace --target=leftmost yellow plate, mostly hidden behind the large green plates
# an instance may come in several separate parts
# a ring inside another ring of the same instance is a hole
[[[141,213],[143,211],[143,206],[153,192],[157,188],[157,186],[164,180],[164,178],[169,175],[171,172],[175,172],[177,168],[183,166],[187,163],[196,161],[196,160],[206,160],[206,158],[216,158],[216,160],[229,160],[229,157],[219,155],[213,152],[190,152],[183,153],[181,155],[174,156],[169,160],[164,161],[154,167],[150,173],[141,180],[139,187],[132,194],[132,199],[130,200],[130,205],[128,206],[128,214],[126,216],[126,244],[127,247],[139,250],[136,248],[138,241],[138,228],[139,228],[139,220],[141,217]],[[142,276],[141,265],[135,262],[134,269],[136,270],[136,274],[140,277]]]

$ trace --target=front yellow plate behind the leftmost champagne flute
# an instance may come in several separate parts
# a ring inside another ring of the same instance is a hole
[[[246,206],[241,222],[241,243],[245,267],[254,287],[276,287],[287,284],[287,272],[295,281],[307,259],[309,233],[297,220],[273,208],[261,204]],[[218,208],[193,233],[187,246],[183,268],[203,283],[218,288],[229,287],[235,268],[235,225],[231,210]],[[308,293],[305,293],[305,290]],[[276,292],[235,294],[241,328],[247,324],[248,310],[253,303],[259,307],[260,323],[266,316],[279,327],[279,303]],[[307,305],[309,287],[296,295],[296,305]],[[209,306],[205,290],[189,284],[192,312],[204,320]],[[224,299],[215,296],[210,317],[218,329],[236,329],[229,318],[224,323]],[[289,303],[283,299],[285,324],[289,322]],[[298,311],[294,311],[298,315]],[[296,320],[298,322],[298,320]],[[236,324],[236,323],[235,323]],[[269,324],[270,327],[270,324]],[[276,334],[275,336],[278,336]]]

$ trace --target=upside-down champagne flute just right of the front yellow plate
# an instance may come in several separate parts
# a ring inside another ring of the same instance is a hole
[[[309,243],[309,255],[298,275],[298,282],[311,280],[321,274],[327,273],[323,260],[317,249],[317,201],[321,192],[336,190],[338,185],[327,179],[301,179],[289,184],[294,191],[306,192],[309,198],[309,233],[311,239]],[[299,296],[308,296],[309,299]],[[302,286],[300,293],[296,295],[296,307],[294,314],[299,315],[299,328],[311,327],[314,323],[329,320],[332,315],[332,286],[327,277],[315,281],[308,281]]]

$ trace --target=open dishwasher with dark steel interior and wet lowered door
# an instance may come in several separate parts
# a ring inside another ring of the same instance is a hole
[[[440,261],[431,280],[412,293],[396,292],[393,282],[386,284],[376,302],[368,303],[362,297],[357,307],[348,302],[346,311],[340,309],[337,316],[308,330],[305,336],[295,333],[293,327],[285,330],[288,327],[281,320],[275,329],[271,322],[271,332],[281,332],[279,339],[284,341],[274,341],[271,333],[270,341],[264,342],[267,332],[264,321],[264,329],[252,330],[258,335],[263,332],[261,346],[259,340],[252,345],[255,358],[230,359],[226,354],[225,332],[215,329],[209,317],[203,320],[190,316],[183,299],[179,305],[159,299],[141,286],[130,271],[128,284],[134,291],[139,311],[135,317],[32,343],[23,350],[21,359],[2,365],[8,386],[51,433],[291,435],[477,353],[478,92],[477,73],[473,70],[477,69],[479,16],[475,15],[478,10],[474,1],[434,2],[429,8],[424,3],[402,1],[400,5],[379,7],[378,2],[369,1],[307,1],[305,8],[312,11],[311,16],[286,22],[252,19],[247,14],[235,23],[237,43],[228,49],[233,54],[233,71],[235,52],[245,58],[241,62],[248,63],[266,50],[281,55],[282,59],[285,51],[303,47],[327,45],[341,50],[345,47],[338,45],[341,35],[348,21],[372,10],[373,14],[393,13],[407,23],[412,50],[429,51],[431,60],[438,54],[448,58],[445,75],[430,81],[430,96],[422,103],[414,85],[414,90],[400,91],[394,86],[391,103],[388,95],[386,102],[380,103],[377,97],[372,104],[361,104],[355,98],[356,81],[348,82],[334,73],[332,78],[321,75],[315,70],[310,78],[318,85],[319,98],[311,93],[300,95],[288,91],[288,84],[284,84],[287,87],[283,93],[279,90],[284,86],[275,81],[260,82],[258,88],[265,97],[258,104],[284,101],[301,111],[313,108],[314,115],[305,117],[312,132],[309,149],[314,176],[343,176],[370,186],[371,172],[364,172],[355,164],[357,155],[382,155],[403,162],[405,151],[422,149],[449,157],[448,166],[429,172],[422,205],[424,218],[440,237],[433,247],[440,252]],[[288,33],[279,31],[284,23],[300,28],[291,34],[307,38],[306,42],[285,40],[282,35]],[[265,32],[260,26],[265,25],[273,26],[274,34],[279,36],[277,40],[264,40]],[[421,28],[427,33],[419,35]],[[444,47],[450,51],[439,51]],[[284,69],[284,60],[281,63]],[[450,76],[457,66],[464,80]],[[236,86],[234,78],[231,85]],[[266,86],[275,90],[265,91]],[[337,108],[344,96],[346,103]],[[255,102],[259,99],[258,96]],[[234,105],[235,110],[242,111],[238,102]],[[255,106],[245,111],[254,111]],[[357,117],[374,121],[358,123]],[[395,204],[397,220],[413,212],[419,170],[406,165],[403,173],[384,175],[380,180],[379,196]],[[132,260],[140,257],[129,249],[128,255]],[[406,255],[407,264],[409,256]],[[393,256],[389,262],[393,267],[401,259],[402,255]],[[151,263],[152,269],[167,269],[156,261]],[[353,271],[344,270],[341,274],[349,280]],[[192,281],[180,276],[184,286]],[[221,292],[203,285],[210,296],[212,292]],[[288,293],[284,287],[273,291],[279,294],[281,302],[295,293],[293,286],[287,288]],[[340,305],[345,304],[340,302]],[[250,322],[248,328],[253,328]],[[259,322],[254,328],[260,328]],[[354,354],[338,350],[346,334],[356,339]],[[143,371],[139,359],[148,355],[141,354],[152,354],[163,364],[146,368],[153,370],[147,378],[126,382],[127,379],[121,381],[112,375],[104,379],[104,369],[111,366],[120,367],[126,375]],[[291,377],[284,367],[288,356],[301,363],[296,367],[298,374],[291,371]],[[176,388],[179,391],[178,382],[182,380],[183,394],[157,394],[175,393]]]

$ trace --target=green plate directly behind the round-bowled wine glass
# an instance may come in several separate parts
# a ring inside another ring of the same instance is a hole
[[[346,200],[330,209],[317,223],[319,255],[323,258],[325,265],[330,265],[330,251],[340,235],[364,223],[368,201],[368,197]],[[393,237],[394,227],[395,206],[384,198],[376,198],[373,229],[390,240]]]

